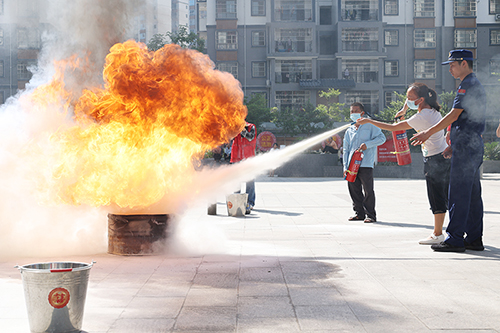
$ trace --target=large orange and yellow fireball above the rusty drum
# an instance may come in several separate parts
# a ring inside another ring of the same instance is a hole
[[[33,95],[69,103],[75,94],[65,91],[61,72]],[[148,207],[187,186],[193,158],[245,124],[239,82],[194,50],[116,44],[103,79],[71,101],[74,126],[51,136],[59,151],[50,186],[66,204]]]

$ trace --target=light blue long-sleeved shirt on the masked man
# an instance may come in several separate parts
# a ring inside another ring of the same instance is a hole
[[[375,154],[377,153],[377,146],[385,142],[385,135],[382,130],[372,124],[364,124],[356,129],[356,126],[351,125],[344,135],[344,171],[349,168],[351,156],[361,144],[366,145],[366,150],[363,151],[364,157],[361,161],[361,168],[373,168],[375,164]]]

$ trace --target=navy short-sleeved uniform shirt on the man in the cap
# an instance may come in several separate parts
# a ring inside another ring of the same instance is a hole
[[[452,146],[456,143],[465,143],[463,140],[467,140],[471,134],[480,136],[484,132],[486,92],[474,73],[467,75],[460,83],[453,101],[453,108],[463,109],[463,111],[451,124]]]

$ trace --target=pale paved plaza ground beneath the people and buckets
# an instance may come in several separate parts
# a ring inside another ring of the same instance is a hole
[[[261,176],[250,215],[193,208],[166,255],[0,261],[0,332],[29,332],[14,265],[92,260],[84,332],[500,332],[500,175],[482,185],[485,251],[437,253],[424,180],[376,179],[367,224],[340,178]]]

